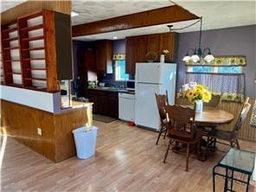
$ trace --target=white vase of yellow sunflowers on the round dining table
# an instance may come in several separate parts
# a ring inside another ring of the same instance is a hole
[[[190,82],[182,86],[182,95],[195,104],[195,112],[202,112],[203,102],[208,103],[212,99],[212,94],[207,86]]]

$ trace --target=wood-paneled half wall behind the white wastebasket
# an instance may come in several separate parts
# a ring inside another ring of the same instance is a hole
[[[4,132],[54,162],[75,155],[72,131],[92,123],[90,107],[53,114],[1,100],[1,115]],[[42,136],[37,134],[38,127]]]

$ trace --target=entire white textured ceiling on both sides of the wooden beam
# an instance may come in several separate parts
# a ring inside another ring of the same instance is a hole
[[[1,1],[1,12],[23,3],[24,0]],[[174,2],[174,3],[173,3]],[[256,1],[227,1],[227,0],[73,0],[73,10],[80,13],[80,16],[72,18],[72,24],[77,25],[86,22],[95,22],[103,19],[124,16],[145,10],[153,10],[161,7],[171,6],[174,4],[181,5],[184,9],[189,10],[196,16],[203,17],[202,29],[222,29],[237,26],[256,24]],[[182,28],[195,21],[176,22],[174,28]],[[199,24],[195,24],[189,29],[179,30],[177,32],[189,32],[199,30]],[[106,34],[87,35],[75,37],[77,40],[96,40],[112,39],[112,36],[118,36],[119,39],[130,35],[143,35],[153,33],[168,32],[169,29],[164,25],[151,26],[139,29],[128,29]]]

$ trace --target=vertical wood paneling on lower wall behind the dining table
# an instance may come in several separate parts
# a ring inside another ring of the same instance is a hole
[[[250,127],[250,118],[252,115],[253,111],[253,105],[255,103],[255,98],[250,98],[249,103],[252,105],[250,112],[248,113],[246,120],[244,124],[242,125],[242,128],[240,130],[240,138],[246,139],[246,140],[251,140],[251,141],[256,141],[256,129],[253,127]],[[178,98],[176,99],[176,104],[177,105],[189,105],[189,101],[184,98]],[[231,112],[234,114],[234,121],[229,124],[229,125],[221,125],[219,128],[221,130],[225,131],[232,131],[235,125],[235,122],[237,118],[240,115],[240,110],[241,110],[242,104],[241,103],[236,103],[236,102],[228,102],[228,101],[222,101],[221,106],[219,107],[221,110]]]

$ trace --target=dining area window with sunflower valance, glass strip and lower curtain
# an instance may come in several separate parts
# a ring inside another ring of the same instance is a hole
[[[184,83],[196,82],[208,86],[212,93],[222,94],[222,100],[243,101],[246,82],[243,67],[246,67],[246,56],[215,56],[210,63],[187,62],[186,67]]]

